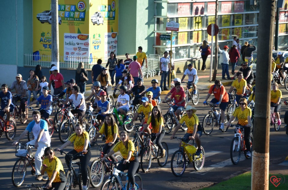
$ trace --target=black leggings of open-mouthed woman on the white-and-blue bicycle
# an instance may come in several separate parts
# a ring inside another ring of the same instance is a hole
[[[139,168],[139,161],[138,158],[135,157],[133,161],[130,161],[129,163],[123,164],[124,159],[119,163],[117,166],[117,169],[120,171],[128,170],[127,176],[129,181],[131,182],[132,185],[135,184],[135,173],[138,171]]]

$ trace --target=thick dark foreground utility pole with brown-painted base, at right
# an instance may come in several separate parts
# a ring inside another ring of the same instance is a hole
[[[260,2],[251,189],[269,188],[269,113],[275,1]],[[261,90],[267,89],[267,90]]]

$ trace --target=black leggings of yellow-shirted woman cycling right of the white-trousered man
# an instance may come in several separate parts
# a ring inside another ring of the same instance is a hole
[[[68,154],[72,154],[72,155],[74,155],[76,153],[77,153],[77,151],[75,151],[75,150],[68,152]],[[87,166],[88,166],[89,161],[91,159],[91,152],[90,151],[87,152],[86,154],[84,154],[84,156],[74,156],[73,160],[76,160],[78,158],[80,159],[80,162],[81,162],[81,174],[82,174],[82,178],[83,178],[83,185],[85,186],[85,185],[87,185],[87,179],[88,179]],[[65,156],[65,160],[66,160],[67,166],[69,167],[70,159],[67,155]]]

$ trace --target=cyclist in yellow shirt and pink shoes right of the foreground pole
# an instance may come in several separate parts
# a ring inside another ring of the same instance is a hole
[[[274,114],[277,117],[277,125],[281,125],[281,119],[280,119],[280,115],[279,115],[279,110],[281,107],[281,98],[282,98],[282,92],[281,90],[278,89],[278,84],[274,83],[272,85],[272,90],[271,90],[271,104],[270,107],[274,107]],[[273,121],[271,121],[273,122]]]

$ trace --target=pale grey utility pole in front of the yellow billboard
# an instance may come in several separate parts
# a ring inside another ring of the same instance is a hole
[[[51,0],[51,31],[52,31],[52,61],[51,64],[57,66],[59,72],[59,30],[58,30],[58,0]]]

